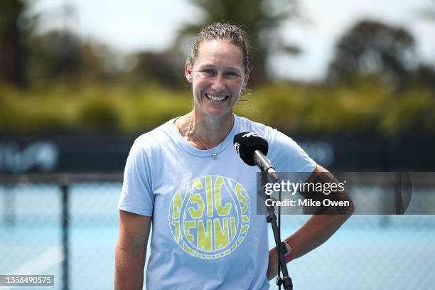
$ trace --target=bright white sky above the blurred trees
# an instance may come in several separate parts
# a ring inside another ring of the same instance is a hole
[[[85,39],[95,39],[121,53],[163,50],[176,38],[183,23],[201,22],[203,13],[188,0],[32,0],[43,12],[40,31],[68,27]],[[73,14],[65,17],[64,7]],[[294,80],[320,80],[333,58],[334,45],[362,19],[401,26],[416,40],[417,61],[435,65],[435,19],[419,12],[435,11],[434,0],[300,0],[301,17],[284,23],[280,31],[302,50],[297,56],[273,55],[269,72]]]

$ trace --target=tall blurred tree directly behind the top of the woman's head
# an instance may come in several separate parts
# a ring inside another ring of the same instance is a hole
[[[259,84],[267,79],[267,55],[276,50],[288,53],[299,52],[294,45],[284,44],[276,28],[284,20],[295,15],[296,1],[284,0],[190,0],[203,10],[204,21],[188,24],[179,31],[176,45],[191,42],[193,36],[207,23],[228,22],[245,28],[249,43],[251,67],[253,68],[249,82]]]

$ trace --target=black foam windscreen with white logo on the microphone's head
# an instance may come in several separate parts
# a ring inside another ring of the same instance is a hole
[[[237,155],[249,166],[254,166],[254,151],[262,151],[264,156],[267,155],[269,144],[266,139],[253,132],[242,132],[236,134],[233,139],[234,149]]]

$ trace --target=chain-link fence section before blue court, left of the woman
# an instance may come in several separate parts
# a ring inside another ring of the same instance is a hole
[[[113,288],[121,174],[0,181],[0,274],[55,275],[38,289]]]

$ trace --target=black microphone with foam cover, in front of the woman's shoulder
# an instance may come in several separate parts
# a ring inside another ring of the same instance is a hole
[[[242,132],[234,136],[233,144],[237,155],[243,162],[249,166],[257,165],[274,181],[280,181],[274,166],[266,158],[267,151],[269,151],[266,139],[253,132]]]

